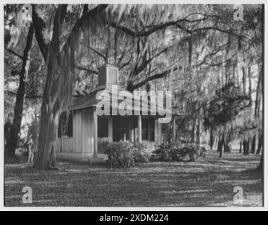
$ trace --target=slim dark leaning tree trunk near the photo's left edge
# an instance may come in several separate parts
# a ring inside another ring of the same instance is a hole
[[[13,157],[15,156],[15,149],[18,147],[19,133],[21,122],[23,120],[23,103],[25,100],[26,94],[26,80],[30,67],[30,49],[32,46],[32,39],[34,36],[34,27],[31,23],[28,35],[27,42],[23,52],[23,65],[20,70],[20,83],[18,86],[16,101],[15,101],[15,109],[14,109],[14,117],[13,123],[11,126],[10,133],[8,134],[8,139],[6,141],[5,148],[5,157]]]

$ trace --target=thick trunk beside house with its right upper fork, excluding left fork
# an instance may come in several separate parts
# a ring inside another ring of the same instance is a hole
[[[56,141],[58,113],[60,103],[58,98],[59,76],[56,54],[60,51],[60,25],[65,15],[67,5],[60,5],[56,11],[53,27],[53,36],[49,45],[49,55],[46,58],[47,73],[46,84],[41,106],[40,129],[38,136],[38,151],[34,161],[34,168],[55,169],[56,153],[54,144]],[[44,57],[45,58],[45,57]]]

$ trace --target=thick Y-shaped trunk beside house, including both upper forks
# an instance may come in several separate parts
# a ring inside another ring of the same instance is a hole
[[[42,97],[41,118],[38,136],[38,151],[34,160],[34,168],[37,169],[51,169],[56,167],[56,155],[53,145],[56,140],[56,120],[59,110],[57,89],[58,89],[58,68],[55,68],[56,53],[60,51],[60,18],[67,8],[67,5],[60,5],[56,11],[54,18],[53,36],[51,43],[47,44],[44,32],[46,25],[42,22],[41,16],[36,13],[38,11],[35,6],[33,8],[33,23],[36,30],[37,41],[40,50],[43,53],[44,60],[47,64],[46,84],[44,87],[44,94]],[[40,27],[40,24],[42,27]],[[40,30],[41,28],[41,30]]]

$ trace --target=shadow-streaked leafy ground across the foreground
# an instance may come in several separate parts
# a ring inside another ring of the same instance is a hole
[[[132,169],[60,161],[59,170],[5,165],[6,206],[181,207],[262,206],[262,176],[253,170],[260,156],[208,153],[196,162],[150,162]],[[32,204],[23,204],[23,187]],[[234,187],[243,203],[234,203]]]

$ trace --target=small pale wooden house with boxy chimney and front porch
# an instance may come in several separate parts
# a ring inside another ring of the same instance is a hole
[[[136,112],[125,116],[98,116],[96,104],[101,100],[96,99],[97,92],[107,90],[111,93],[114,85],[117,85],[120,91],[118,68],[103,65],[98,69],[98,73],[96,91],[74,98],[68,110],[69,115],[67,112],[60,115],[56,139],[57,158],[98,161],[104,156],[102,143],[107,141],[139,141],[146,143],[148,150],[153,150],[155,143],[162,141],[159,111],[155,115],[149,105],[148,115],[143,115],[143,107],[137,109],[133,105],[133,112],[138,110],[140,115],[134,115]],[[110,97],[111,100],[117,101],[112,94]]]

